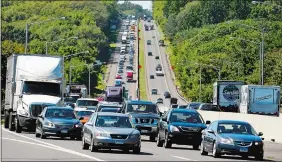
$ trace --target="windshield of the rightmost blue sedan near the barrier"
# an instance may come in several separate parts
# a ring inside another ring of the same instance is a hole
[[[257,135],[257,132],[254,130],[254,128],[250,124],[246,123],[219,123],[217,132]]]

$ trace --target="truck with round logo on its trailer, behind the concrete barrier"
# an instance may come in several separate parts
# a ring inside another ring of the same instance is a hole
[[[241,86],[244,81],[222,80],[213,84],[213,104],[222,111],[238,112]]]

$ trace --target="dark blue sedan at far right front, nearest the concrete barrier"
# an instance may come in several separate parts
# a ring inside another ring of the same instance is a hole
[[[221,155],[254,156],[256,160],[263,160],[262,135],[247,122],[217,120],[203,131],[201,154],[210,152],[215,158]]]

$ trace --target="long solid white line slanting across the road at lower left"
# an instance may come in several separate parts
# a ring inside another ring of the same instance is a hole
[[[70,153],[70,154],[74,154],[74,155],[78,155],[78,156],[82,156],[82,157],[89,158],[89,159],[91,159],[91,160],[104,161],[104,160],[98,159],[98,158],[93,157],[93,156],[89,156],[89,155],[86,155],[86,154],[82,154],[82,153],[80,153],[80,152],[76,152],[76,151],[73,151],[73,150],[69,150],[69,149],[66,149],[66,148],[63,148],[63,147],[60,147],[60,146],[57,146],[57,145],[53,145],[53,144],[48,143],[48,142],[39,141],[39,140],[30,138],[30,137],[27,137],[27,136],[23,136],[23,135],[17,134],[17,133],[15,133],[15,132],[8,131],[8,130],[6,130],[4,127],[2,127],[2,130],[3,130],[3,131],[6,131],[6,132],[8,132],[8,133],[14,134],[14,135],[16,135],[16,136],[19,136],[19,137],[22,137],[22,138],[26,138],[26,139],[35,141],[35,142],[37,142],[37,143],[41,143],[41,144],[44,144],[44,145],[48,145],[49,147],[52,147],[52,148],[54,148],[54,149],[56,149],[56,150],[59,149],[59,150],[61,150],[61,151],[64,151],[64,152],[67,152],[67,153]],[[3,138],[3,137],[2,137],[2,138]]]

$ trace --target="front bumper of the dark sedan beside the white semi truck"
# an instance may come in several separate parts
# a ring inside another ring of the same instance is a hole
[[[64,132],[65,131],[65,132]],[[43,128],[43,133],[48,136],[81,137],[82,128]]]

